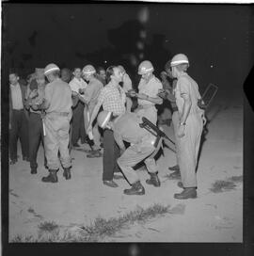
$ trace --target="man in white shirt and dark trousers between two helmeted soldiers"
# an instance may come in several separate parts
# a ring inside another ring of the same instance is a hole
[[[79,90],[86,89],[87,83],[81,77],[81,69],[75,68],[73,70],[73,78],[69,83],[72,91],[72,97],[76,98],[74,101],[77,103],[73,106],[73,116],[72,116],[72,131],[71,131],[71,145],[73,147],[79,148],[78,140],[81,138],[81,143],[86,141],[86,130],[85,130],[85,121],[84,121],[84,112],[85,104],[78,99],[76,96],[79,93]]]

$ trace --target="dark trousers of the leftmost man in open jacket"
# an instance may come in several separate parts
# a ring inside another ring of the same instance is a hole
[[[12,110],[10,120],[11,129],[9,130],[9,158],[17,159],[18,138],[21,140],[22,155],[29,157],[28,152],[28,120],[25,117],[24,110]]]

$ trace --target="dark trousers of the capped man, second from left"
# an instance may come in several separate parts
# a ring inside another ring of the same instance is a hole
[[[37,168],[37,153],[40,146],[40,141],[43,144],[43,126],[40,114],[30,113],[29,116],[29,160],[30,167]],[[45,153],[44,153],[44,164],[45,164]]]

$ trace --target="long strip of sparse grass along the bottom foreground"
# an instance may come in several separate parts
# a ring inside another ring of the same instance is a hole
[[[134,224],[135,222],[145,222],[155,216],[162,216],[169,213],[170,206],[154,204],[147,209],[137,207],[123,216],[105,219],[98,216],[90,225],[77,227],[78,231],[71,232],[65,230],[60,234],[59,226],[55,222],[45,221],[39,226],[38,238],[23,238],[21,235],[15,236],[11,242],[101,242],[104,236],[110,236],[119,230]],[[24,241],[26,239],[26,241]]]

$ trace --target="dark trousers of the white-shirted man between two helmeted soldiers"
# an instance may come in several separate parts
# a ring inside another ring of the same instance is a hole
[[[72,135],[71,143],[76,144],[78,139],[81,138],[81,142],[84,143],[86,140],[86,130],[84,123],[84,104],[78,102],[73,108],[72,114]]]

